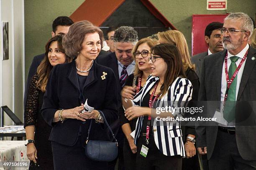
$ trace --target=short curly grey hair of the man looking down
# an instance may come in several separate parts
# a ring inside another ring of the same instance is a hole
[[[115,30],[114,42],[131,42],[135,45],[138,42],[138,32],[132,27],[121,26]]]

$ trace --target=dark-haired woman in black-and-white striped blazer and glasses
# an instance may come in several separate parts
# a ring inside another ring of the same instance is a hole
[[[152,47],[149,64],[152,73],[144,87],[133,100],[122,98],[127,119],[138,117],[134,137],[138,153],[136,168],[181,170],[185,150],[180,124],[175,120],[161,121],[159,118],[175,118],[181,113],[164,111],[157,115],[152,107],[185,107],[192,98],[192,84],[184,78],[182,60],[174,45]],[[122,93],[126,93],[125,90]],[[156,115],[159,117],[156,118]]]

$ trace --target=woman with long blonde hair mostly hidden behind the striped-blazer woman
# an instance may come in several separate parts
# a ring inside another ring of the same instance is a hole
[[[195,65],[193,65],[190,60],[187,41],[184,35],[182,34],[182,32],[179,32],[177,30],[168,30],[165,32],[159,32],[157,36],[159,38],[159,43],[170,43],[178,48],[181,54],[185,75],[193,85],[192,101],[189,102],[188,106],[195,107],[195,102],[198,99],[200,82],[195,72]],[[191,115],[188,114],[188,117],[191,117]],[[184,135],[183,141],[185,143],[184,146],[186,156],[187,158],[189,158],[182,160],[182,170],[200,170],[199,160],[195,148],[195,126],[189,126],[188,124],[189,122],[182,122],[182,134]]]

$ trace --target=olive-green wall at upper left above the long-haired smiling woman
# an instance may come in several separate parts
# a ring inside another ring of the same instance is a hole
[[[25,80],[33,57],[45,52],[53,20],[70,16],[82,2],[84,0],[25,0]]]

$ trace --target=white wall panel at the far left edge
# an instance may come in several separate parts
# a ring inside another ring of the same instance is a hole
[[[0,0],[0,8],[0,106],[7,105],[23,120],[24,1]],[[2,60],[3,22],[9,23],[9,60]],[[4,125],[12,125],[4,116]]]

